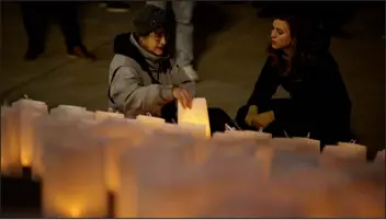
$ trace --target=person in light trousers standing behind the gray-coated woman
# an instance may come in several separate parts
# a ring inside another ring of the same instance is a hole
[[[166,9],[167,1],[147,1],[158,8]],[[175,50],[177,63],[182,67],[190,79],[197,81],[198,76],[193,69],[193,10],[194,1],[172,1],[172,9],[175,16]]]

